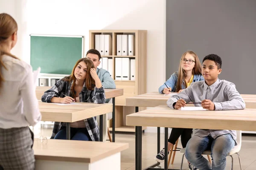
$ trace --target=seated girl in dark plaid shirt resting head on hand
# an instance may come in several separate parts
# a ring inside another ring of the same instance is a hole
[[[42,102],[66,103],[94,102],[105,103],[105,91],[96,73],[93,62],[82,58],[76,62],[70,76],[60,79],[44,92]],[[99,141],[99,127],[96,117],[70,124],[70,139]],[[66,139],[66,123],[55,122],[51,139]]]

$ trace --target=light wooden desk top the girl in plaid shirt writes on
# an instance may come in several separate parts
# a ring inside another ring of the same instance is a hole
[[[79,102],[80,105],[56,105],[38,101],[42,121],[76,122],[93,116],[110,113],[112,104],[95,104]]]

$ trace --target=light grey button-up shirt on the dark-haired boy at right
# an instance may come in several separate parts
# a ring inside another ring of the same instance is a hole
[[[211,100],[215,105],[215,110],[239,110],[245,108],[245,103],[236,86],[232,82],[219,80],[208,86],[205,81],[191,83],[184,91],[177,95],[171,96],[167,105],[173,108],[173,104],[178,99],[184,99],[186,102],[202,102],[204,99]],[[201,104],[195,104],[201,107]],[[236,130],[212,130],[212,129],[195,129],[194,135],[205,137],[209,134],[213,139],[218,136],[230,133],[236,140]]]

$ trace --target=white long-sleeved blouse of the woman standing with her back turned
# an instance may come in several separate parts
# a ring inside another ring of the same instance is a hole
[[[41,120],[32,67],[19,59],[3,56],[0,87],[0,128],[35,126]]]

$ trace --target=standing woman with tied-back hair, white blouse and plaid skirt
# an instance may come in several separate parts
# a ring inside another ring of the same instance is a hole
[[[11,54],[17,23],[0,14],[0,169],[35,168],[33,133],[29,125],[41,120],[32,67]]]

